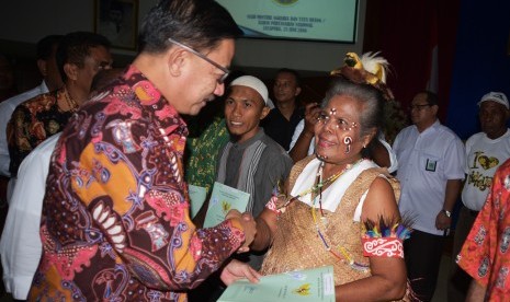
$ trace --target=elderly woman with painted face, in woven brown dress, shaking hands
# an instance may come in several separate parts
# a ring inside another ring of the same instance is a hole
[[[315,126],[316,153],[294,165],[286,194],[260,214],[251,248],[270,247],[263,275],[332,265],[337,301],[403,299],[409,230],[398,183],[362,156],[390,92],[363,68],[336,73]]]

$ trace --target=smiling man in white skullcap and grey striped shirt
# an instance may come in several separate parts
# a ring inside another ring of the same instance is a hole
[[[265,84],[251,76],[235,79],[225,100],[230,141],[219,151],[216,182],[250,194],[247,211],[257,217],[293,165],[285,150],[259,126],[270,108]],[[259,269],[263,257],[246,255]]]

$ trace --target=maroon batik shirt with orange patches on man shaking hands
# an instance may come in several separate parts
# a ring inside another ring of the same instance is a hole
[[[190,220],[186,133],[133,66],[80,108],[52,158],[29,300],[184,301],[241,245],[237,221]]]

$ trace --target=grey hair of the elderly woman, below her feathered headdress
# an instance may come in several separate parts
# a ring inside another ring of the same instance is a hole
[[[321,107],[326,107],[331,98],[337,95],[353,97],[362,103],[360,113],[360,136],[371,132],[373,128],[378,131],[383,125],[384,96],[375,88],[369,84],[355,84],[343,77],[335,77],[322,100]]]

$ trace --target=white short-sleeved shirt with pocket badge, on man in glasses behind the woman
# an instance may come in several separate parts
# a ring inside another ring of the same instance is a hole
[[[464,144],[437,120],[421,133],[415,125],[401,130],[393,150],[398,159],[400,213],[413,219],[413,229],[443,235],[443,230],[435,228],[435,217],[444,205],[446,182],[464,179]]]

